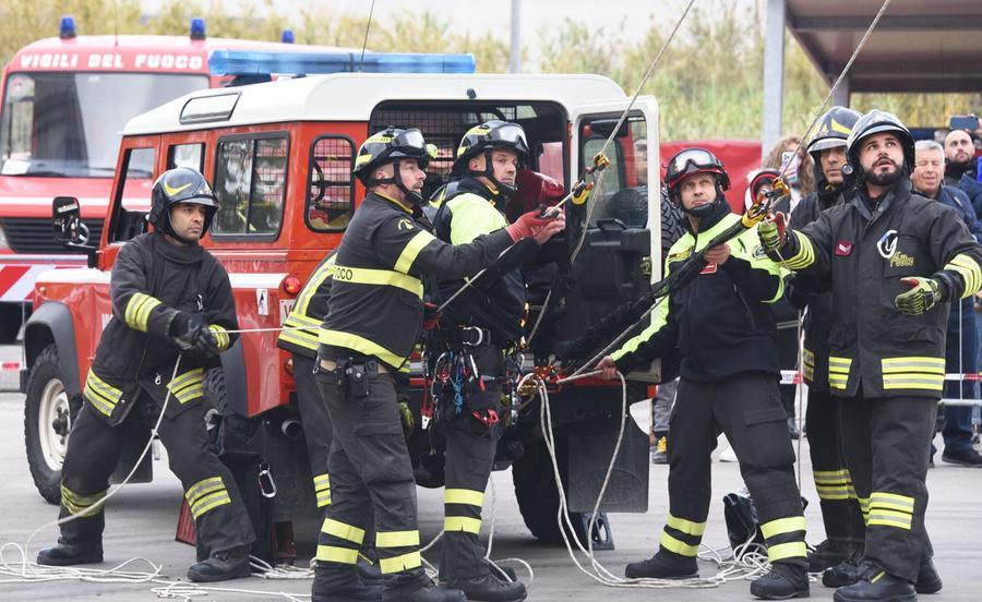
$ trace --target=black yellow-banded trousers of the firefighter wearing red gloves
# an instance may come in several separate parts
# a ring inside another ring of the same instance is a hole
[[[374,362],[367,362],[374,365]],[[375,549],[386,591],[418,588],[424,577],[419,553],[416,481],[403,434],[392,377],[369,373],[369,395],[357,398],[337,386],[333,372],[315,375],[334,426],[327,469],[331,505],[318,541],[319,568],[338,576],[320,579],[327,590],[355,570],[358,550],[374,511]],[[330,594],[331,591],[319,591]]]

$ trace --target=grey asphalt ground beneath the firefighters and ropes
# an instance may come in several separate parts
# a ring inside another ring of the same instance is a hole
[[[0,348],[0,358],[16,357],[13,347]],[[5,381],[0,378],[0,386]],[[57,517],[57,508],[47,504],[37,494],[27,470],[24,453],[23,396],[17,393],[0,393],[0,474],[3,475],[2,511],[0,511],[0,545],[9,542],[21,546],[41,526]],[[937,442],[941,443],[939,441]],[[806,510],[809,521],[809,541],[817,543],[823,539],[823,527],[818,514],[817,496],[811,481],[807,462],[807,441],[801,445],[805,457],[802,466],[803,495],[813,503]],[[922,600],[931,601],[972,601],[982,600],[982,588],[979,586],[978,570],[982,567],[982,511],[980,511],[980,493],[982,493],[982,470],[957,468],[941,461],[936,457],[937,468],[929,474],[931,504],[927,509],[927,527],[935,549],[935,563],[944,579],[944,590],[936,595],[924,595]],[[144,557],[160,566],[160,575],[170,580],[185,580],[187,567],[194,561],[194,550],[175,541],[178,511],[182,497],[181,486],[176,477],[167,469],[166,457],[154,462],[155,479],[152,483],[134,484],[125,487],[108,503],[107,529],[105,535],[105,563],[97,568],[109,569],[131,557]],[[615,550],[598,552],[598,559],[615,575],[622,575],[624,565],[647,556],[658,545],[662,521],[668,511],[666,482],[668,467],[651,466],[648,513],[611,515]],[[722,518],[722,496],[742,486],[735,463],[714,462],[714,501],[709,525],[704,542],[711,546],[726,545],[726,528]],[[544,545],[537,542],[518,514],[513,493],[511,472],[499,472],[493,477],[494,502],[491,495],[486,497],[484,539],[491,516],[494,517],[494,558],[520,557],[528,562],[535,570],[535,580],[529,588],[529,600],[618,600],[618,601],[734,601],[752,600],[747,581],[733,581],[714,589],[670,590],[628,590],[613,589],[596,583],[578,571],[563,547]],[[430,541],[439,533],[443,522],[442,490],[419,489],[420,531],[422,541]],[[307,566],[307,562],[315,547],[315,526],[297,526],[295,534],[300,558],[298,565]],[[50,545],[57,538],[53,527],[41,529],[29,542],[28,557],[34,558],[39,547]],[[430,561],[439,559],[438,543],[424,555]],[[8,567],[15,568],[22,556],[17,549],[7,545],[2,561]],[[142,565],[133,564],[131,570],[145,570]],[[524,580],[528,580],[524,570],[516,566]],[[708,562],[700,563],[702,576],[716,573],[716,567]],[[0,575],[0,600],[4,602],[73,600],[73,601],[132,601],[157,600],[151,591],[149,583],[96,583],[77,580],[60,580],[52,582],[19,583],[9,575]],[[310,580],[268,580],[252,577],[218,587],[247,592],[203,592],[189,600],[286,600],[276,592],[290,592],[308,600],[303,594],[310,593]],[[831,600],[833,590],[812,585],[812,599]],[[180,599],[180,598],[178,598]]]

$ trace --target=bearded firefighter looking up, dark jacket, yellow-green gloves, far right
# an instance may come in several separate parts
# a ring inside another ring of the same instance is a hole
[[[913,139],[895,116],[864,115],[846,148],[853,198],[802,230],[773,219],[758,234],[771,258],[831,287],[828,384],[866,522],[861,579],[835,600],[910,601],[942,587],[924,528],[924,450],[949,304],[979,290],[982,248],[950,207],[911,193]]]

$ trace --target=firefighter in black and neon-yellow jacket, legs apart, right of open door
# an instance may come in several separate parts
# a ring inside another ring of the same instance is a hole
[[[723,196],[729,176],[716,156],[686,148],[669,161],[664,184],[685,212],[686,233],[666,258],[666,275],[740,220]],[[753,496],[769,573],[751,593],[776,600],[809,595],[805,520],[794,481],[794,450],[781,407],[776,321],[780,267],[757,253],[752,230],[709,249],[698,276],[655,310],[651,324],[600,361],[603,377],[656,358],[681,359],[668,444],[669,517],[658,552],[627,565],[628,578],[688,578],[709,515],[710,455],[726,433]]]

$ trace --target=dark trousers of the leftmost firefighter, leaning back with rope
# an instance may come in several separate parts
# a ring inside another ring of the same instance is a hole
[[[171,404],[175,402],[171,399]],[[119,460],[127,429],[139,421],[156,420],[159,409],[149,396],[140,394],[135,404],[117,426],[99,419],[88,402],[82,406],[72,426],[62,467],[61,518],[84,511],[109,487],[109,477]],[[165,418],[159,435],[167,448],[170,470],[184,487],[194,528],[204,546],[214,552],[255,541],[236,480],[215,456],[208,441],[205,406],[197,404]],[[85,518],[62,525],[61,541],[97,542],[101,539],[104,525],[105,515],[100,507],[92,514],[86,513]]]

